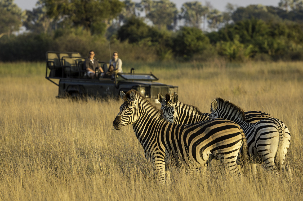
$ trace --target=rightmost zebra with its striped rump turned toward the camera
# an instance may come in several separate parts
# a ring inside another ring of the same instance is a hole
[[[216,98],[211,102],[210,119],[224,118],[237,123],[247,138],[248,156],[255,175],[257,163],[264,163],[265,168],[279,177],[279,172],[291,175],[285,163],[290,144],[290,132],[285,124],[275,118],[265,118],[257,123],[245,121],[243,110],[235,104]]]

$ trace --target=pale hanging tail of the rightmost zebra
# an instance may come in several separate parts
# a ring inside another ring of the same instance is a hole
[[[285,129],[288,130],[288,128],[285,128]],[[281,124],[278,125],[279,142],[278,142],[278,150],[277,150],[277,153],[275,155],[275,166],[276,166],[278,172],[281,172],[282,165],[283,165],[283,162],[284,162],[284,159],[285,159],[285,157],[284,157],[285,147],[283,146],[285,144],[283,141],[287,140],[287,139],[283,138],[283,134],[285,132],[285,129],[281,127]]]

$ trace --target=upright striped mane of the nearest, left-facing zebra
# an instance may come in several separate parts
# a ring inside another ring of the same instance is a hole
[[[134,89],[131,89],[129,90],[128,92],[126,92],[126,94],[123,96],[123,100],[124,101],[129,101],[131,100],[131,96],[130,94],[134,92],[135,93],[135,96],[136,96],[136,100],[138,102],[141,103],[141,105],[144,107],[144,108],[149,108],[149,110],[152,111],[152,114],[154,117],[158,117],[158,120],[164,120],[164,117],[163,117],[163,111],[158,109],[157,107],[155,107],[153,104],[151,104],[151,102],[149,102],[144,96],[142,96],[137,90],[134,90]]]

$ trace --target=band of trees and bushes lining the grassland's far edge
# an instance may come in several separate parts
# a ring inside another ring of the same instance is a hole
[[[179,11],[169,0],[38,0],[22,11],[14,0],[0,0],[0,13],[4,55],[16,44],[78,51],[104,41],[145,49],[160,60],[303,59],[303,0],[281,0],[276,7],[228,3],[225,12],[198,1],[185,2]],[[12,35],[21,25],[26,32]]]

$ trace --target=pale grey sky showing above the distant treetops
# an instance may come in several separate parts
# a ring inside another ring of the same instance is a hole
[[[141,0],[132,0],[133,2],[140,2]],[[194,2],[195,0],[170,0],[174,2],[178,9],[181,8],[182,4],[185,2]],[[199,0],[198,0],[199,1]],[[17,4],[22,10],[32,10],[35,7],[37,0],[15,0],[15,4]],[[205,5],[205,0],[200,0],[202,5]],[[208,0],[211,2],[211,5],[218,9],[219,11],[225,11],[225,6],[227,3],[231,3],[237,6],[246,7],[250,4],[262,4],[262,5],[271,5],[278,6],[280,0]]]

